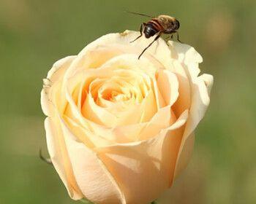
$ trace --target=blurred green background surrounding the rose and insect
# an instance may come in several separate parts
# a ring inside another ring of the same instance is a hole
[[[171,204],[256,203],[255,0],[0,0],[0,203],[75,203],[39,160],[45,130],[42,78],[59,58],[103,34],[138,30],[144,17],[173,15],[181,41],[214,75],[211,106]]]

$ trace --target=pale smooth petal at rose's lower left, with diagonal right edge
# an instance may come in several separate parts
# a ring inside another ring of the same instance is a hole
[[[67,157],[83,195],[95,203],[125,203],[124,195],[97,154],[80,143],[62,119],[59,122],[67,145]]]

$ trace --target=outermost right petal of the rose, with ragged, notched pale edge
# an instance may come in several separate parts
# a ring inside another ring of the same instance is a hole
[[[175,176],[183,170],[189,161],[189,152],[192,152],[194,144],[193,131],[197,127],[200,120],[203,118],[210,103],[209,94],[213,85],[213,76],[207,74],[197,76],[200,73],[198,63],[203,61],[203,58],[193,47],[187,44],[179,44],[176,42],[168,42],[173,58],[176,58],[184,67],[190,84],[191,106],[189,110],[189,119],[187,121],[184,136],[181,140],[181,146],[178,152],[176,162]],[[192,136],[192,138],[189,138]]]

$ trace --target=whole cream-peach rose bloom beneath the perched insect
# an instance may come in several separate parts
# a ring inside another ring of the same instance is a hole
[[[193,47],[108,34],[54,63],[41,103],[48,151],[70,197],[155,200],[187,165],[213,77]]]

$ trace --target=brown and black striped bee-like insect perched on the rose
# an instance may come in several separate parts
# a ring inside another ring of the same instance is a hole
[[[159,39],[159,36],[161,36],[162,34],[170,34],[171,39],[173,39],[173,34],[177,34],[177,40],[178,42],[181,42],[178,37],[178,28],[180,24],[175,17],[171,17],[169,15],[159,15],[157,17],[152,17],[150,15],[145,15],[138,12],[129,12],[129,13],[151,17],[151,20],[149,20],[147,23],[142,23],[140,25],[140,36],[138,36],[132,42],[135,42],[135,40],[139,39],[141,36],[143,36],[143,34],[147,39],[157,34],[153,42],[148,44],[148,47],[150,47],[151,44],[157,41],[157,39]],[[143,53],[148,49],[148,47],[146,47],[140,53],[138,59],[140,59],[141,55],[143,55]]]

